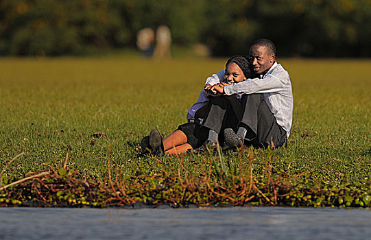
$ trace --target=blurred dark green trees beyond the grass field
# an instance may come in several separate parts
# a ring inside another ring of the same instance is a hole
[[[167,25],[174,45],[213,56],[270,38],[279,56],[370,57],[369,0],[1,0],[1,56],[84,55],[135,48],[143,27]]]

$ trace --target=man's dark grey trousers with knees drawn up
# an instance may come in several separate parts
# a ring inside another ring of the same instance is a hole
[[[246,128],[245,145],[280,147],[286,144],[287,134],[265,102],[263,93],[211,97],[202,125],[223,134],[225,128],[235,132],[239,126]]]

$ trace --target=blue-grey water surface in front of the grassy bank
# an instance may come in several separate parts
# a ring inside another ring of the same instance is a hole
[[[371,239],[371,210],[0,208],[0,239]]]

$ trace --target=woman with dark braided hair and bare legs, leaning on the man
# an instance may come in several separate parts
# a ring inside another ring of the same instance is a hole
[[[254,71],[252,71],[252,64],[250,63],[249,58],[240,55],[233,56],[226,62],[224,81],[219,84],[235,84],[252,77],[254,77]],[[208,90],[206,91],[206,96],[215,97],[217,96],[217,93]],[[239,98],[238,95],[235,95],[235,97]],[[206,108],[207,105],[200,108],[195,113],[195,119],[201,119],[201,121],[184,123],[165,139],[162,139],[158,130],[152,129],[149,136],[145,136],[141,141],[142,153],[152,153],[157,156],[163,156],[164,154],[173,155],[182,154],[187,152],[189,149],[201,147],[208,139],[208,130],[201,128],[202,118],[204,117]],[[232,123],[232,121],[228,121],[228,119],[224,121],[224,128],[235,127],[235,123]],[[223,141],[224,136],[221,134],[219,136],[219,143],[222,143]]]

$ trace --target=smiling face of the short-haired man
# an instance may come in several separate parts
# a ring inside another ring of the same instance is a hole
[[[252,45],[250,48],[252,67],[255,73],[261,74],[272,67],[275,56],[269,54],[267,47]]]

